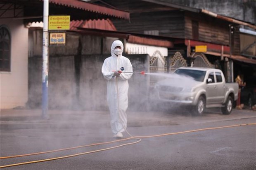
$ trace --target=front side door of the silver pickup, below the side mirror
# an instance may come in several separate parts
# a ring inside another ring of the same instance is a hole
[[[212,79],[212,82],[207,82],[207,79]],[[206,103],[212,104],[216,102],[217,97],[217,88],[214,78],[214,73],[210,72],[206,79]]]

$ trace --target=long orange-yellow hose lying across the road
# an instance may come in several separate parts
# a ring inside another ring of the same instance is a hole
[[[192,132],[198,132],[198,131],[203,131],[203,130],[215,130],[215,129],[221,129],[221,128],[232,128],[232,127],[250,126],[250,125],[256,125],[256,123],[245,123],[245,124],[237,124],[237,125],[230,125],[230,126],[220,126],[220,127],[213,127],[213,128],[202,128],[202,129],[187,130],[187,131],[176,132],[176,133],[164,133],[164,134],[160,134],[160,135],[134,136],[134,137],[126,138],[126,139],[114,140],[114,141],[110,141],[110,142],[95,143],[95,144],[84,145],[84,146],[80,146],[80,147],[95,146],[95,145],[99,145],[99,144],[107,144],[107,143],[125,141],[125,140],[130,140],[130,139],[133,139],[133,138],[137,139],[137,138],[163,137],[163,136],[168,136],[168,135],[178,135],[178,134],[192,133]],[[12,167],[12,166],[17,166],[17,165],[25,165],[25,164],[39,163],[39,162],[45,162],[45,161],[53,161],[53,160],[57,160],[57,159],[70,158],[70,157],[73,157],[73,156],[80,156],[80,155],[84,155],[84,154],[91,154],[91,153],[95,153],[95,152],[99,152],[99,151],[106,151],[106,150],[109,150],[109,149],[114,149],[114,148],[130,145],[130,144],[136,144],[136,143],[138,143],[140,141],[141,141],[141,139],[136,141],[136,142],[130,142],[130,143],[121,144],[121,145],[118,145],[118,146],[115,146],[115,147],[98,149],[98,150],[95,150],[95,151],[88,151],[88,152],[83,152],[83,153],[79,153],[79,154],[73,154],[73,155],[61,156],[61,157],[56,157],[56,158],[43,159],[43,160],[38,160],[38,161],[30,161],[30,162],[16,163],[16,164],[10,164],[10,165],[3,165],[3,166],[0,166],[0,168],[7,168],[7,167]],[[73,148],[75,149],[75,148],[79,148],[79,147],[73,147]],[[58,149],[58,150],[55,150],[55,151],[61,151],[61,150],[64,151],[64,150],[68,150],[68,149],[71,149],[71,148]],[[54,152],[54,151],[47,151],[47,152],[40,152],[40,153],[33,153],[33,154],[24,154],[23,156],[30,156],[30,155],[35,155],[35,154],[49,153],[49,152]],[[19,155],[19,157],[20,156],[21,155]],[[9,156],[9,158],[14,158],[14,157],[18,157],[18,156]],[[1,158],[4,158],[4,157],[1,157]]]

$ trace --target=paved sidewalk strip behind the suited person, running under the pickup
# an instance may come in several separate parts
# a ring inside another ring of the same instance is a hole
[[[49,110],[49,119],[41,118],[40,109],[2,109],[0,130],[29,128],[93,128],[110,127],[109,112]],[[218,110],[206,112],[203,116],[166,112],[127,112],[128,127],[168,126],[189,123],[207,123],[236,119],[256,118],[256,112],[234,109],[230,115]]]

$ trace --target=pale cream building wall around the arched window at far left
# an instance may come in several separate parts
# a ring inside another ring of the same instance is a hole
[[[4,16],[10,16],[9,11]],[[28,100],[28,28],[23,20],[1,19],[11,36],[11,71],[0,72],[0,109],[25,106]]]

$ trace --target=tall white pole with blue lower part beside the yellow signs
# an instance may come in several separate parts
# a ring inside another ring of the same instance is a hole
[[[43,1],[43,79],[42,79],[42,118],[48,119],[48,16],[49,0]]]

